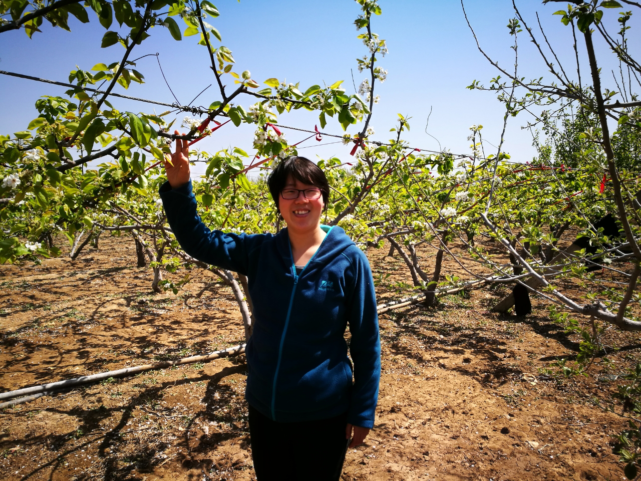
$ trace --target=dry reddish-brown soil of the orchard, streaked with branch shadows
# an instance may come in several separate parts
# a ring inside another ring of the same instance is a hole
[[[387,253],[368,252],[375,276],[397,273],[379,285],[379,302],[404,297],[394,284],[411,282]],[[419,250],[423,265],[434,255]],[[231,290],[213,274],[194,269],[178,295],[154,294],[151,268],[135,266],[131,237],[107,234],[75,261],[0,266],[1,391],[244,341]],[[451,260],[445,267],[460,271]],[[342,479],[623,478],[612,435],[625,419],[590,398],[610,400],[617,376],[640,360],[640,334],[607,328],[587,377],[555,376],[551,364],[572,364],[580,339],[551,322],[536,298],[527,317],[491,312],[509,289],[381,314],[376,425],[348,451]],[[240,356],[4,409],[0,472],[6,480],[253,480],[245,380]]]

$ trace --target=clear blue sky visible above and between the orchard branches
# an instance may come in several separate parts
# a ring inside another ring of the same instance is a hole
[[[354,92],[354,84],[358,88],[365,78],[365,74],[359,74],[356,69],[355,59],[367,53],[367,49],[356,38],[358,32],[353,21],[360,13],[360,8],[355,1],[241,0],[238,3],[236,0],[218,0],[213,3],[221,16],[210,19],[210,23],[221,32],[222,45],[233,52],[237,65],[234,71],[238,73],[248,69],[252,78],[259,83],[271,77],[300,82],[301,90],[315,83],[330,85],[334,81],[344,80],[343,86],[348,94]],[[483,124],[485,139],[497,145],[503,128],[503,106],[492,92],[470,91],[465,87],[473,80],[488,85],[498,72],[476,49],[460,2],[381,0],[379,3],[383,15],[374,17],[372,31],[387,40],[389,53],[385,58],[379,58],[378,65],[388,70],[388,76],[385,83],[376,86],[375,94],[381,97],[381,101],[374,106],[371,125],[376,134],[372,139],[390,139],[392,133],[389,130],[397,121],[396,114],[401,113],[412,117],[412,130],[404,135],[404,139],[412,146],[467,153],[470,151],[467,136],[472,124]],[[548,40],[565,67],[573,71],[571,30],[562,25],[558,15],[552,15],[565,4],[542,5],[537,1],[521,0],[517,1],[517,6],[532,27],[536,26],[535,12],[538,11]],[[506,24],[514,16],[512,2],[467,0],[465,8],[481,46],[488,55],[511,71],[512,37],[508,35]],[[613,25],[610,30],[613,33],[618,30],[616,18],[619,10],[606,10],[604,19],[607,21],[610,17],[610,25]],[[88,24],[71,22],[71,32],[47,25],[43,24],[43,33],[37,33],[31,40],[24,31],[2,33],[0,69],[67,81],[69,71],[76,69],[76,65],[88,70],[98,62],[120,60],[124,53],[119,45],[100,48],[104,28],[97,22],[94,13],[90,13]],[[115,28],[117,24],[114,22],[111,30]],[[134,49],[131,58],[159,53],[167,81],[183,104],[191,101],[210,84],[212,87],[197,99],[195,105],[207,106],[219,99],[215,78],[209,69],[208,54],[204,47],[196,44],[197,37],[183,37],[181,42],[176,42],[164,28],[154,28],[150,33],[151,37]],[[526,32],[519,35],[520,76],[544,76],[547,73],[545,66],[533,50]],[[538,37],[541,37],[540,32]],[[638,35],[631,37],[629,44],[640,44]],[[610,56],[603,45],[597,43],[597,48],[602,55]],[[601,66],[607,72],[616,67],[609,63],[602,63]],[[146,83],[132,83],[127,92],[118,87],[118,92],[169,103],[173,101],[154,56],[139,60],[137,70],[146,76]],[[573,76],[571,72],[569,74]],[[587,77],[587,71],[583,75]],[[231,76],[224,78],[228,89],[234,89]],[[608,78],[612,79],[612,76]],[[45,94],[63,96],[65,90],[63,87],[8,76],[0,76],[0,86],[0,111],[3,112],[0,115],[1,133],[24,130],[28,122],[37,116],[33,105],[38,97]],[[612,89],[615,85],[606,84],[604,87]],[[160,113],[164,110],[162,107],[122,99],[112,99],[112,103],[119,110],[133,112],[153,112],[155,108]],[[239,103],[247,108],[253,103],[253,97],[241,97]],[[432,112],[428,124],[430,109]],[[178,114],[177,117],[181,119],[184,115]],[[504,151],[509,152],[513,160],[525,162],[535,155],[531,135],[520,128],[528,120],[526,114],[520,114],[508,121]],[[297,111],[281,115],[279,123],[313,130],[319,122],[316,114]],[[359,128],[360,124],[351,126],[348,131],[355,133]],[[233,128],[228,124],[215,132],[211,139],[200,142],[198,147],[212,153],[228,146],[251,151],[253,130],[251,126]],[[324,131],[340,134],[342,128],[337,121],[329,120]],[[290,143],[306,137],[304,133],[296,131],[285,132]],[[299,150],[299,154],[312,160],[317,155],[335,155],[348,160],[349,147],[340,143],[321,145],[333,141],[335,139],[328,137],[322,142],[309,140],[301,144],[304,148]],[[486,153],[495,151],[490,144],[486,147]],[[195,172],[201,170],[201,167],[197,167]]]

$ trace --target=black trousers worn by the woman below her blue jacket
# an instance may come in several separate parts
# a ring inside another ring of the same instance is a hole
[[[330,419],[278,423],[249,406],[251,455],[258,481],[337,481],[349,440],[347,413]]]

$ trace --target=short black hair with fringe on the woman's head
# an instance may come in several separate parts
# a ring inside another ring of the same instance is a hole
[[[320,192],[322,192],[324,208],[327,208],[329,201],[329,183],[325,173],[308,158],[290,155],[280,164],[276,165],[276,168],[274,168],[267,178],[267,187],[269,187],[269,193],[272,194],[272,199],[274,199],[277,209],[281,190],[285,189],[285,184],[289,176],[292,176],[292,178],[302,183],[318,187]]]

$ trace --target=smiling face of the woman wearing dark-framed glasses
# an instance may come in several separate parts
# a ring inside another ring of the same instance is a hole
[[[315,185],[302,183],[299,180],[287,178],[283,189],[318,189]],[[308,199],[303,192],[299,192],[296,199],[283,199],[281,195],[278,199],[278,208],[287,223],[290,232],[297,234],[313,233],[320,224],[320,215],[324,204],[322,195],[318,199]]]

